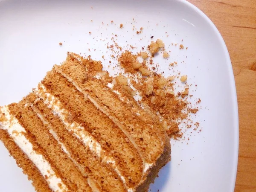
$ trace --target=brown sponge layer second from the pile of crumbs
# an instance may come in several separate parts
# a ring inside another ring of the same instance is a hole
[[[102,148],[111,154],[128,188],[133,188],[139,183],[143,169],[140,155],[108,116],[99,111],[88,99],[85,100],[84,95],[59,73],[48,73],[42,83],[47,92],[63,103],[61,108],[65,106],[68,109],[70,115],[67,114],[67,118],[72,116],[72,120],[81,124]]]

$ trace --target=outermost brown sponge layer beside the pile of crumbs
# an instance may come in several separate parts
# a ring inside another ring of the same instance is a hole
[[[88,99],[98,105],[103,113],[107,114],[124,133],[135,141],[134,145],[137,145],[142,153],[146,165],[144,168],[147,169],[160,157],[163,146],[166,144],[163,142],[167,136],[162,124],[157,119],[152,119],[138,106],[128,105],[100,79],[93,78],[92,75],[102,72],[100,67],[97,67],[94,73],[90,71],[86,76],[88,70],[92,70],[90,60],[77,59],[77,57],[68,55],[67,61],[61,66],[55,66],[55,69],[66,76],[78,90],[84,93],[84,96],[88,95]]]

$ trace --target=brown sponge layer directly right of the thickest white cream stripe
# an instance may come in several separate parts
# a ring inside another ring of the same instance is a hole
[[[44,154],[52,169],[55,170],[69,189],[77,192],[90,191],[87,178],[81,175],[67,154],[61,150],[58,142],[27,104],[26,99],[16,105],[9,105],[9,108],[26,132],[30,134],[29,140],[34,145],[34,150]],[[37,148],[35,148],[36,145]]]

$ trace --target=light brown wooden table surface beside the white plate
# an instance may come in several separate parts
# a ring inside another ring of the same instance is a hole
[[[256,192],[256,0],[188,0],[217,26],[233,65],[239,107],[235,192]]]

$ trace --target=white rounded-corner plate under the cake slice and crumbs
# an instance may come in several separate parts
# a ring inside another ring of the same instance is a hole
[[[143,27],[143,33],[137,35],[133,25]],[[0,105],[26,96],[53,64],[64,61],[67,51],[109,59],[111,53],[106,52],[105,44],[112,33],[118,35],[121,46],[147,45],[151,35],[154,40],[163,39],[172,51],[168,62],[178,62],[174,69],[188,75],[189,83],[197,84],[193,98],[202,100],[202,110],[194,117],[200,122],[201,133],[193,131],[189,145],[187,141],[172,141],[172,161],[160,171],[151,191],[232,192],[239,128],[230,57],[214,24],[186,1],[0,0]],[[187,50],[171,46],[181,42]],[[88,48],[96,51],[88,52]],[[168,62],[156,59],[162,62],[160,67],[166,76],[173,74],[167,70]],[[103,63],[108,65],[108,61]],[[34,191],[2,143],[0,191]]]

